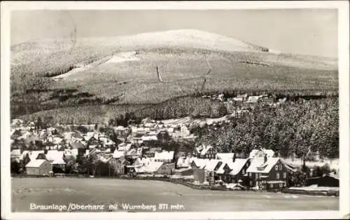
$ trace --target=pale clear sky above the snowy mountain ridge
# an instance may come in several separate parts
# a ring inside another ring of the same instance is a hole
[[[13,11],[11,45],[42,38],[198,29],[283,53],[337,57],[336,9]]]

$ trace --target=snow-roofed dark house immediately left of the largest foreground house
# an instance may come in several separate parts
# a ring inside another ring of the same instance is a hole
[[[226,183],[237,184],[240,180],[246,182],[246,170],[248,166],[248,159],[232,158],[232,160],[221,164],[218,170],[216,170],[216,176]]]

